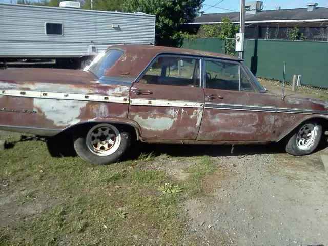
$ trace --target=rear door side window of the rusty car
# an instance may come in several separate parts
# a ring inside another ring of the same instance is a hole
[[[199,61],[189,57],[160,56],[140,83],[200,87]]]

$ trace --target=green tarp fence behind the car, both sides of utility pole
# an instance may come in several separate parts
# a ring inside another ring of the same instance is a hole
[[[182,48],[225,53],[224,40],[195,38],[185,40]],[[245,40],[245,64],[257,77],[285,81],[302,75],[302,84],[328,88],[328,42],[289,40]]]

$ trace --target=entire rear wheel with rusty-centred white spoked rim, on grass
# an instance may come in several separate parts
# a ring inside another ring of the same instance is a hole
[[[129,148],[131,134],[124,127],[97,124],[74,134],[74,149],[85,161],[94,165],[116,162]]]

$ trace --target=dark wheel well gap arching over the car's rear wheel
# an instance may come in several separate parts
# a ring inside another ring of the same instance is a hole
[[[120,126],[120,127],[124,127],[125,129],[127,129],[130,133],[131,133],[131,138],[138,140],[139,137],[139,133],[138,130],[129,125],[129,124],[124,124],[124,123],[116,123],[116,122],[86,122],[86,123],[81,123],[81,124],[77,124],[77,125],[73,125],[71,127],[68,127],[67,129],[64,129],[63,131],[61,131],[60,133],[58,133],[57,135],[72,135],[74,133],[74,131],[81,131],[81,130],[85,130],[85,129],[90,129],[91,127],[97,125],[97,124],[101,124],[101,123],[108,123],[111,124],[113,126]]]

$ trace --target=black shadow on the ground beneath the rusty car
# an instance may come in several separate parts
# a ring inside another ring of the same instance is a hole
[[[63,136],[61,136],[63,137]],[[5,148],[13,148],[17,142],[24,141],[46,142],[48,151],[52,157],[77,156],[70,137],[42,138],[22,135],[19,141],[6,142]],[[66,144],[63,145],[63,142]],[[315,152],[328,147],[327,137],[323,137]],[[135,160],[142,156],[159,156],[166,154],[172,157],[197,157],[197,156],[247,156],[262,154],[285,153],[284,146],[279,143],[249,144],[249,145],[183,145],[183,144],[147,144],[133,142],[129,151],[121,161]]]

